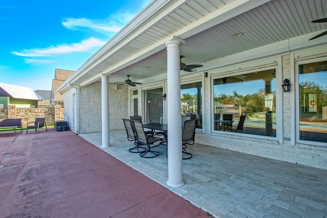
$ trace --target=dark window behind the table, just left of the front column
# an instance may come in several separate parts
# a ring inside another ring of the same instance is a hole
[[[144,123],[160,123],[164,104],[162,103],[162,88],[144,91]]]

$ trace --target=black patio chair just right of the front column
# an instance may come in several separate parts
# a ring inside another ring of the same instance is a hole
[[[190,119],[184,122],[182,132],[182,153],[186,154],[186,157],[183,157],[183,160],[192,158],[192,154],[186,152],[186,148],[189,144],[194,144],[196,121],[196,119]]]

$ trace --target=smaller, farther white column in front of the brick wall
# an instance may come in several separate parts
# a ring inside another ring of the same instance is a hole
[[[109,92],[108,76],[101,76],[101,127],[102,145],[101,148],[109,147]]]

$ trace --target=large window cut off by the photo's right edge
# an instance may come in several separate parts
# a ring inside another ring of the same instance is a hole
[[[327,61],[299,65],[299,139],[327,142]]]

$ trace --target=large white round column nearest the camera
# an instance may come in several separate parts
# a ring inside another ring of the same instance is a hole
[[[168,181],[171,187],[185,184],[182,178],[182,134],[180,113],[179,46],[171,40],[167,46],[167,115],[168,115]]]

